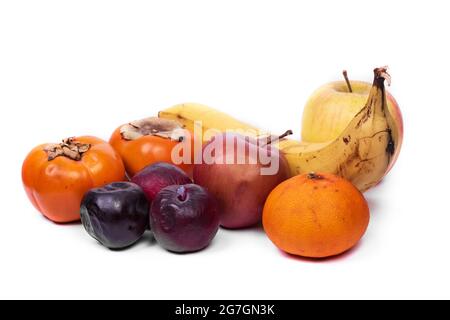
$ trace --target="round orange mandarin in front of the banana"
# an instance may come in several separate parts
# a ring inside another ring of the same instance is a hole
[[[350,182],[327,173],[295,176],[266,200],[264,230],[281,250],[324,258],[352,248],[369,224],[369,207]]]

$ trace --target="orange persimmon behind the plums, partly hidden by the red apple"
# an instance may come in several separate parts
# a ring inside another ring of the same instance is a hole
[[[176,165],[188,175],[192,173],[192,135],[174,120],[156,117],[133,121],[117,128],[111,136],[110,144],[120,154],[128,176],[131,178],[145,167],[167,162]],[[172,150],[180,143],[189,148],[180,148],[179,156],[188,161],[175,163]],[[189,154],[184,155],[184,152]]]

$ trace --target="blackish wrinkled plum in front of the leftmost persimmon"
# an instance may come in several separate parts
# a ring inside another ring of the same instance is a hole
[[[115,182],[86,193],[81,203],[81,222],[89,235],[105,247],[122,249],[144,234],[149,207],[138,185]]]

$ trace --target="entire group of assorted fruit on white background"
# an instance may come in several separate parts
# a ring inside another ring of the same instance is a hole
[[[195,252],[220,226],[262,221],[287,253],[341,254],[369,224],[361,192],[389,172],[403,139],[386,68],[374,70],[373,84],[344,75],[309,99],[301,142],[287,138],[291,131],[273,136],[204,105],[181,104],[120,126],[109,143],[75,137],[36,147],[23,164],[26,193],[49,220],[81,219],[110,249],[151,230],[165,249]]]

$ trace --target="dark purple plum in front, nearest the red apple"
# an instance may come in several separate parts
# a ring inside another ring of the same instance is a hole
[[[150,224],[156,241],[178,253],[204,249],[219,229],[216,200],[195,184],[162,189],[150,210]]]

